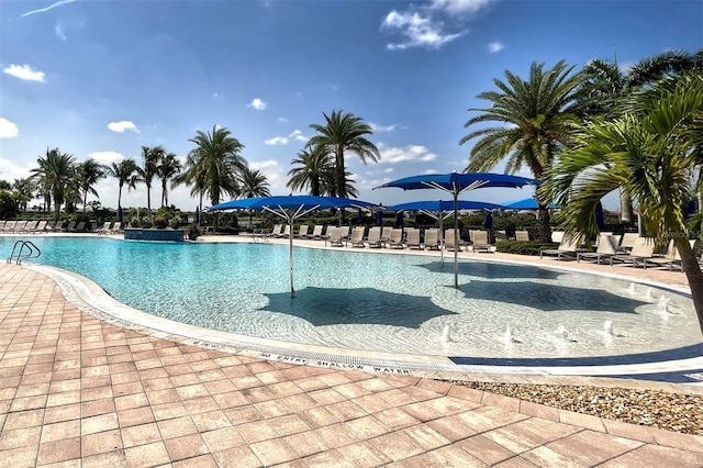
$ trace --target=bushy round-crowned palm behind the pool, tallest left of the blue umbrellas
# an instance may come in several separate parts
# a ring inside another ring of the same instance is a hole
[[[239,194],[237,174],[246,166],[246,159],[239,154],[244,145],[231,134],[227,129],[213,126],[212,133],[198,131],[189,140],[197,147],[188,155],[182,180],[202,187],[212,204],[220,203],[223,194]]]

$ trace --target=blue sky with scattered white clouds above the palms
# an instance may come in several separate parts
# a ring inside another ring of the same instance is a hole
[[[462,170],[464,123],[506,69],[590,58],[626,68],[703,46],[695,1],[18,1],[0,2],[0,179],[26,177],[46,148],[103,164],[164,145],[185,157],[198,130],[221,125],[245,148],[272,194],[324,123],[352,112],[376,130],[381,161],[347,158],[359,198],[392,204],[437,199],[371,190],[410,175]],[[495,171],[502,171],[498,166]],[[529,176],[528,172],[521,175]],[[116,181],[98,185],[116,207]],[[475,191],[502,202],[529,189]],[[152,194],[158,205],[160,191]],[[606,208],[614,209],[613,197]],[[169,202],[193,210],[186,188]],[[146,205],[146,189],[123,193]]]

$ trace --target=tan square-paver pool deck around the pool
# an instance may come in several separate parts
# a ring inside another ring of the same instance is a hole
[[[460,256],[559,264],[495,253]],[[563,266],[687,286],[680,272]],[[192,337],[104,320],[74,288],[37,268],[0,264],[0,468],[703,466],[700,436],[422,376],[211,349]],[[662,365],[658,371],[667,370]],[[633,378],[473,377],[703,393],[700,385]]]

